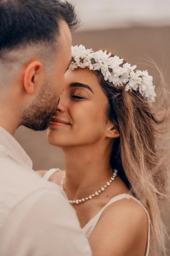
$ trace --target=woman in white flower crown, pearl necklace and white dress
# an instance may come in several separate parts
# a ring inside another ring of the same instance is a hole
[[[48,129],[66,169],[39,171],[60,184],[93,256],[155,256],[165,167],[156,146],[152,77],[106,51],[72,48],[65,89]],[[139,201],[139,200],[140,201]]]

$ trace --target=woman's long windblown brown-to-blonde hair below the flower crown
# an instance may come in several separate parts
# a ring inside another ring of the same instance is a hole
[[[162,92],[151,104],[139,92],[126,92],[124,87],[105,81],[100,71],[93,72],[108,98],[107,120],[120,133],[120,137],[113,140],[112,168],[118,169],[120,178],[149,212],[149,255],[156,256],[158,250],[165,254],[161,209],[166,198],[166,165],[160,147],[160,135],[163,135],[160,128],[166,121],[168,101],[163,76],[160,73]]]

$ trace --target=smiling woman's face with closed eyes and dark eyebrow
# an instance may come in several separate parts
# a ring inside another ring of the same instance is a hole
[[[88,68],[68,70],[60,103],[48,129],[48,142],[59,147],[106,140],[108,100]]]

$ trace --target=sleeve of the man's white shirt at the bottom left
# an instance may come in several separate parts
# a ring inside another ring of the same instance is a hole
[[[90,256],[76,212],[59,191],[44,189],[12,211],[3,229],[1,256]]]

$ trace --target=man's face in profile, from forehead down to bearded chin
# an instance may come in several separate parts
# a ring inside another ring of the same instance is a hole
[[[64,90],[64,76],[71,59],[72,38],[70,29],[64,20],[60,21],[60,35],[57,41],[57,53],[54,66],[47,74],[34,102],[23,112],[21,125],[33,130],[48,128],[54,115],[59,97]]]

